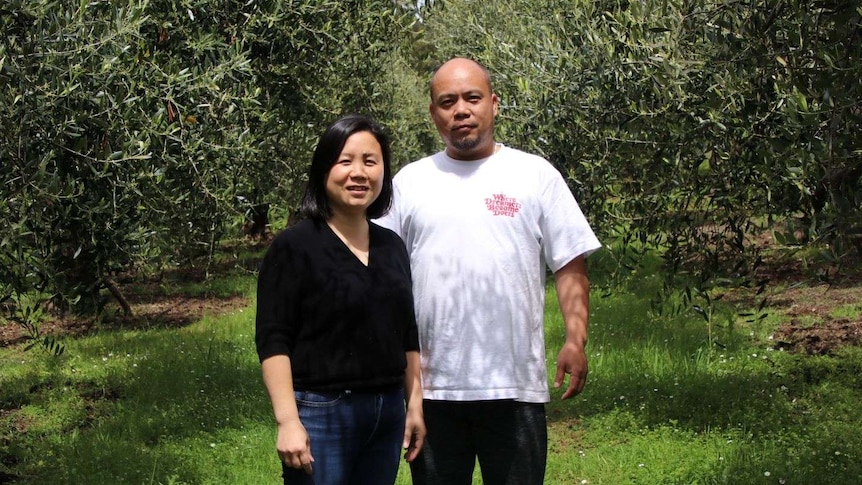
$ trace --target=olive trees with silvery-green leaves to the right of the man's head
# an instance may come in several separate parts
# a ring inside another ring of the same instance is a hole
[[[499,136],[557,164],[603,235],[700,279],[747,273],[776,222],[858,241],[852,2],[438,0],[423,18],[432,57],[489,67]]]

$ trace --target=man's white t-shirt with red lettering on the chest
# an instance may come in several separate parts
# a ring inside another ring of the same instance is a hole
[[[410,254],[426,399],[548,402],[546,266],[601,247],[556,168],[498,147],[405,166],[376,221]]]

